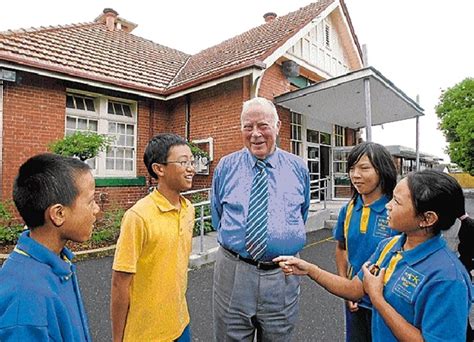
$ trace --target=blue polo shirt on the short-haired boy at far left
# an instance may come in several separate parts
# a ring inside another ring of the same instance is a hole
[[[0,269],[0,341],[91,341],[74,255],[23,232]]]

